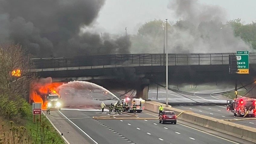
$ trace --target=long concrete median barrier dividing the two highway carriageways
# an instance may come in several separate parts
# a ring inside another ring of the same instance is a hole
[[[158,113],[160,104],[162,103],[158,103],[155,101],[146,101],[144,106],[146,110]],[[162,105],[164,107],[164,110],[174,111],[176,115],[180,114],[183,111],[172,107],[165,107],[165,104]],[[256,129],[249,126],[243,126],[240,124],[195,113],[183,113],[177,119],[194,123],[199,126],[203,126],[221,133],[226,133],[256,143]]]

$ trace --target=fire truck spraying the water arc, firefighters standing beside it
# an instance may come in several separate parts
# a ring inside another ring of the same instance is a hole
[[[141,98],[132,98],[132,99],[125,98],[125,99],[122,99],[122,103],[123,103],[123,111],[128,111],[129,113],[134,112],[133,104],[135,104],[137,113],[141,113],[142,110],[144,110],[145,100]]]

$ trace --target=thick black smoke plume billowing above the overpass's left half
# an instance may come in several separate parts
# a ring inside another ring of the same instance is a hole
[[[129,53],[129,37],[80,33],[105,0],[0,0],[0,41],[21,43],[37,57]]]

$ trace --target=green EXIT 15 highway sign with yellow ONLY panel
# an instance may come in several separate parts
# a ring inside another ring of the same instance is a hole
[[[237,70],[238,74],[249,74],[249,51],[237,51]]]

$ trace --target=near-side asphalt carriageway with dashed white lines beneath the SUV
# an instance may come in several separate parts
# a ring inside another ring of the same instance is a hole
[[[55,110],[51,114],[62,115],[65,120],[78,132],[87,142],[94,144],[237,144],[251,142],[226,136],[204,128],[190,126],[182,121],[174,124],[162,124],[158,120],[99,120],[92,119],[93,116],[107,116],[100,111],[87,110]],[[109,114],[113,115],[113,114]],[[121,114],[126,115],[126,114]],[[157,118],[154,113],[144,111],[138,117]],[[58,117],[59,118],[59,117]],[[74,119],[75,118],[75,119]],[[84,118],[84,119],[81,119]],[[58,120],[56,120],[58,121]],[[63,120],[61,120],[63,121]],[[62,126],[63,127],[63,126]],[[64,126],[65,127],[65,126]],[[220,136],[219,136],[220,135]],[[80,137],[81,138],[81,137]],[[69,138],[67,138],[69,139]],[[73,142],[70,142],[73,143]]]

